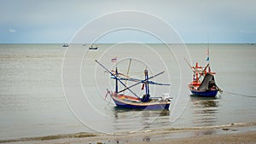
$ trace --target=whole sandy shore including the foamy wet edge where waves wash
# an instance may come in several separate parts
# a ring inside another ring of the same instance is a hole
[[[256,126],[230,126],[194,130],[142,130],[115,135],[77,133],[49,135],[0,141],[0,143],[84,143],[84,144],[201,144],[201,143],[256,143]]]

